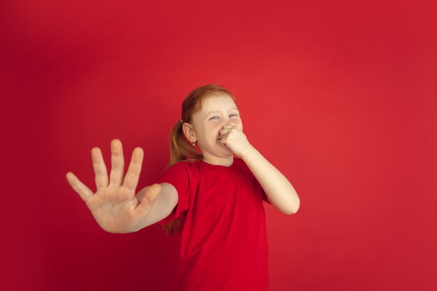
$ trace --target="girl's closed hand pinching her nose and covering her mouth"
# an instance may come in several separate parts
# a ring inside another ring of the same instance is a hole
[[[218,142],[230,148],[237,156],[241,157],[252,147],[243,131],[232,124],[223,126],[220,135],[222,138]]]

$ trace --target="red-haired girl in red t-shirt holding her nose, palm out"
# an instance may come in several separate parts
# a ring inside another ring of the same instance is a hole
[[[181,234],[179,291],[268,290],[268,248],[262,201],[295,214],[299,197],[288,179],[247,140],[235,97],[216,84],[182,103],[172,129],[170,163],[157,183],[135,194],[143,151],[133,150],[124,177],[120,140],[112,140],[110,179],[91,149],[97,192],[66,174],[98,225],[136,232],[158,223]],[[124,179],[123,179],[124,177]]]

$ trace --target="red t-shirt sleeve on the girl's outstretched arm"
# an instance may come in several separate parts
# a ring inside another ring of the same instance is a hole
[[[163,225],[170,223],[173,219],[178,218],[184,211],[188,209],[189,201],[189,179],[188,179],[188,169],[186,163],[178,162],[169,167],[161,177],[158,178],[156,183],[168,183],[176,188],[177,191],[177,205],[175,209],[161,221],[157,223]]]

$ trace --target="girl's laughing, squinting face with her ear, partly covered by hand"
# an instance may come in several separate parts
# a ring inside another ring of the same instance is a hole
[[[184,125],[186,135],[190,140],[198,142],[205,158],[233,156],[233,152],[227,146],[218,143],[218,138],[221,137],[220,130],[226,124],[243,130],[237,105],[230,96],[223,94],[203,99],[202,110],[193,114],[192,121],[191,126]]]

